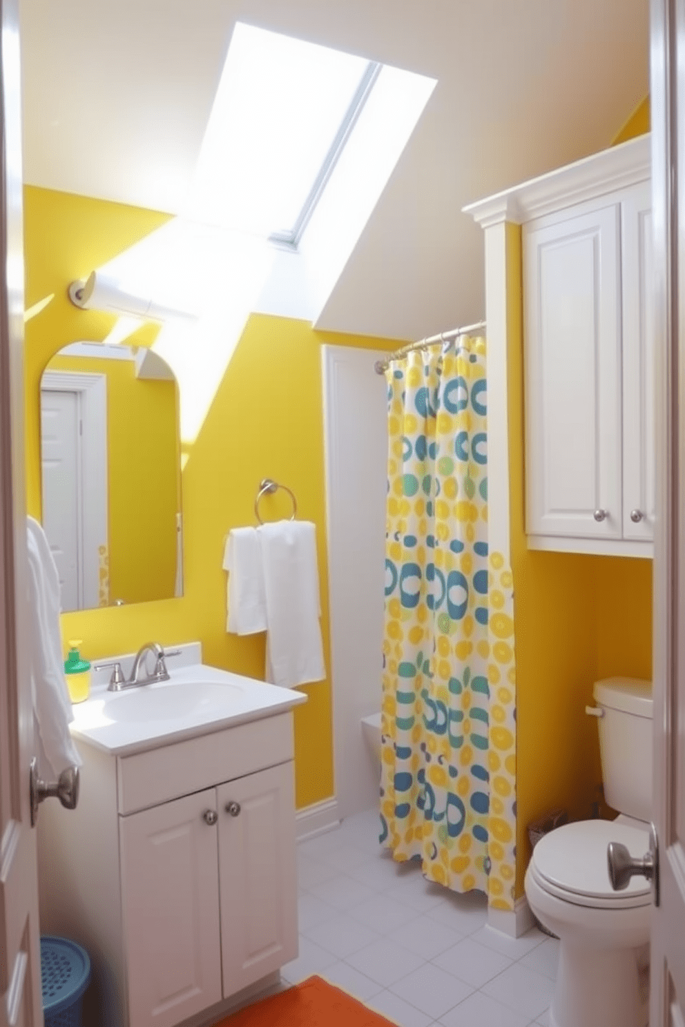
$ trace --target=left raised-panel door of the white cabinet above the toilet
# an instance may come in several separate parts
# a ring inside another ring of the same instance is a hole
[[[621,537],[619,210],[524,226],[532,534]]]

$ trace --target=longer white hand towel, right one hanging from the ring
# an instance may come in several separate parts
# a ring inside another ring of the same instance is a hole
[[[257,531],[264,561],[267,681],[283,688],[321,681],[316,528],[309,521],[276,521]]]

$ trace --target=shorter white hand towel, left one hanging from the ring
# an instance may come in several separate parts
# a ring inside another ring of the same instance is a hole
[[[228,571],[226,631],[254,635],[266,631],[262,544],[256,528],[233,528],[224,550]]]

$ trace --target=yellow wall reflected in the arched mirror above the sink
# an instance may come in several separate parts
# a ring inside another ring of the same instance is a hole
[[[107,376],[110,602],[173,596],[181,509],[176,382],[137,378],[132,360],[55,356],[49,370]]]

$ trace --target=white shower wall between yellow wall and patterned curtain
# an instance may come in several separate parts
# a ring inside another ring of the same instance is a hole
[[[324,346],[333,743],[338,815],[378,803],[360,719],[381,708],[386,384],[376,350]]]

